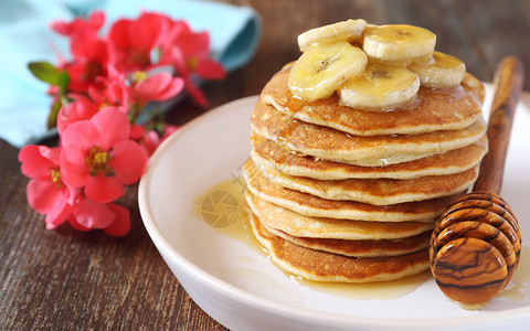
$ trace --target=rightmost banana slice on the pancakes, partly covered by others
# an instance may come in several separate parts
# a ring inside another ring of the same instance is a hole
[[[417,74],[422,86],[430,88],[456,87],[466,74],[464,62],[441,52],[434,52],[432,63],[412,63],[407,68]]]

